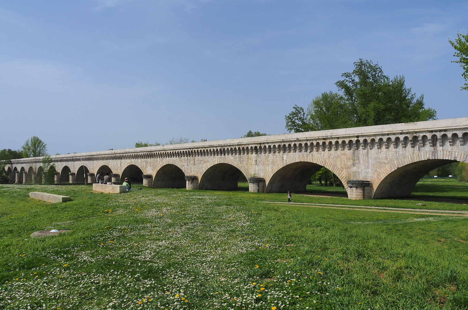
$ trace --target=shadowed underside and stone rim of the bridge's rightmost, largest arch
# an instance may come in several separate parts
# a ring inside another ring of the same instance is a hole
[[[422,152],[396,160],[380,169],[371,180],[373,198],[408,197],[425,174],[456,161],[468,162],[467,154],[452,151]]]

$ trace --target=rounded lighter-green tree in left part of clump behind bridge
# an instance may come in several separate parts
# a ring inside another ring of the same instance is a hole
[[[352,124],[350,109],[338,93],[322,93],[307,108],[309,122],[314,130],[347,128]]]

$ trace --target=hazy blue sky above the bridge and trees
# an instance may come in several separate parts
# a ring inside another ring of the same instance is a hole
[[[448,38],[467,1],[0,0],[0,148],[49,152],[172,137],[281,134],[358,58],[468,116]]]

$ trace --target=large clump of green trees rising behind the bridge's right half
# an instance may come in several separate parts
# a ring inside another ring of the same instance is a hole
[[[424,107],[424,96],[416,97],[405,86],[403,76],[390,79],[382,67],[359,59],[352,72],[341,75],[335,84],[341,91],[322,93],[307,108],[294,106],[285,116],[291,132],[327,130],[346,127],[385,125],[434,120],[437,113]]]

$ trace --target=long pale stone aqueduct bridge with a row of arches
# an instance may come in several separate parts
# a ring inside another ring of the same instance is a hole
[[[42,182],[42,158],[7,166],[16,183]],[[409,196],[432,169],[468,163],[468,117],[263,137],[52,156],[57,183],[95,182],[98,172],[149,187],[236,189],[243,174],[252,192],[304,192],[322,166],[349,198]]]

